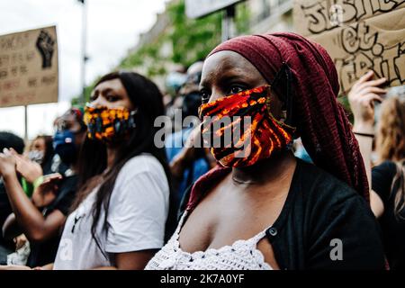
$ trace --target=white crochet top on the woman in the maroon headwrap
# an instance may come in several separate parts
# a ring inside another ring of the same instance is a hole
[[[257,249],[257,243],[266,237],[266,229],[253,238],[238,240],[230,246],[193,253],[183,251],[178,239],[186,215],[187,211],[175,234],[149,261],[146,270],[273,270]]]

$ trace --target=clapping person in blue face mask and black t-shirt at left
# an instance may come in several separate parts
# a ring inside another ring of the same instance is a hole
[[[76,109],[68,110],[58,118],[57,125],[55,152],[68,168],[63,174],[43,176],[32,199],[23,192],[17,180],[18,157],[8,149],[0,154],[0,174],[4,177],[4,187],[14,211],[4,223],[4,236],[25,235],[31,246],[28,258],[31,267],[54,261],[60,231],[77,190],[76,159],[85,139],[86,126],[81,112]]]

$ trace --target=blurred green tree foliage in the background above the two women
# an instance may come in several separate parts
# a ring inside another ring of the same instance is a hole
[[[193,62],[205,58],[220,43],[221,21],[224,12],[217,12],[200,19],[189,19],[185,15],[184,0],[175,0],[167,5],[166,14],[170,24],[157,40],[130,52],[121,59],[117,69],[146,67],[146,76],[167,74],[168,62],[188,67]],[[236,7],[235,24],[237,34],[249,32],[249,12],[247,4]],[[160,49],[165,43],[172,43],[173,53],[163,56]],[[94,83],[96,80],[94,80]],[[94,83],[85,88],[85,101],[88,101]],[[78,96],[72,99],[72,105],[78,105]]]

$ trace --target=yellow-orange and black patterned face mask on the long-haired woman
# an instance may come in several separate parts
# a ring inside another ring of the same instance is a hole
[[[128,135],[136,127],[136,111],[126,108],[85,107],[85,124],[87,137],[99,139],[106,143],[115,142]]]

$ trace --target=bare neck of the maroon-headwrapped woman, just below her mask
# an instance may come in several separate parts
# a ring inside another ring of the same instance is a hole
[[[296,159],[292,151],[259,161],[253,166],[232,169],[232,180],[236,184],[265,184],[280,181],[292,175]]]

